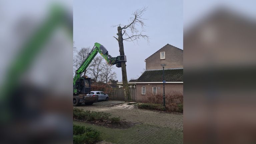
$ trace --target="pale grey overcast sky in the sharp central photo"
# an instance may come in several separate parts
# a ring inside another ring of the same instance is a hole
[[[130,1],[84,1],[73,3],[73,40],[77,49],[93,47],[95,42],[105,46],[112,57],[119,54],[116,36],[117,27],[112,25],[128,24],[136,9],[148,7],[143,15],[150,43],[141,39],[138,44],[124,41],[127,56],[127,78],[141,75],[145,68],[144,60],[167,43],[183,49],[183,2],[182,0],[130,0]],[[99,54],[98,54],[99,55]],[[114,66],[115,67],[115,66]],[[121,68],[115,67],[117,80],[122,81]]]

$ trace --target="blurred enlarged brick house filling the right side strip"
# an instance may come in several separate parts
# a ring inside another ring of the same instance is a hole
[[[230,5],[209,9],[184,31],[186,144],[256,143],[256,19]]]

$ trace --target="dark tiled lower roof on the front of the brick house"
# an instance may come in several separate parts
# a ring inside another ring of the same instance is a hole
[[[183,82],[183,68],[165,69],[164,80],[166,82]],[[160,82],[163,81],[163,70],[146,70],[137,82]]]

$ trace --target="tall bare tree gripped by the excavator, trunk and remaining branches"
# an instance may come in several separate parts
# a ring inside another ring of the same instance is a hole
[[[129,23],[127,25],[115,25],[113,27],[117,26],[117,38],[113,36],[119,44],[119,52],[120,55],[124,55],[124,44],[123,41],[136,41],[138,43],[138,40],[140,38],[144,38],[149,43],[149,36],[143,34],[146,30],[144,27],[146,26],[144,23],[144,18],[142,18],[143,14],[147,10],[147,7],[137,9],[135,12],[133,12],[132,17],[129,19]],[[121,62],[122,67],[122,80],[123,80],[123,88],[124,88],[124,98],[125,101],[131,101],[128,81],[127,81],[127,73],[126,73],[126,64],[125,62]]]

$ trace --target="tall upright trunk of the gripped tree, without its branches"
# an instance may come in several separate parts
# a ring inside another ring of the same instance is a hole
[[[118,35],[119,52],[120,52],[120,55],[124,55],[123,34],[120,26],[117,27],[117,31],[118,31],[117,35]],[[129,90],[128,81],[127,81],[126,64],[124,61],[121,62],[121,68],[122,68],[124,100],[127,102],[127,101],[131,101],[131,96],[130,96],[130,90]]]

